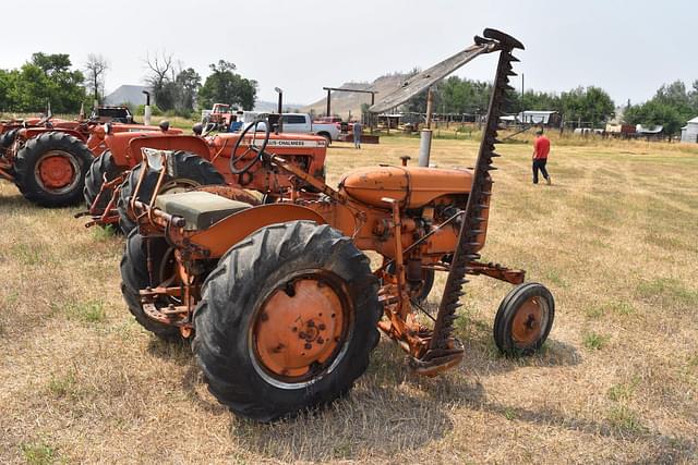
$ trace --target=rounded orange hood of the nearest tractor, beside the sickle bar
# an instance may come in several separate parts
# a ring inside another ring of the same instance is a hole
[[[437,197],[468,194],[472,171],[423,167],[375,167],[351,171],[339,183],[349,197],[374,207],[387,208],[384,197],[402,208],[420,208]]]

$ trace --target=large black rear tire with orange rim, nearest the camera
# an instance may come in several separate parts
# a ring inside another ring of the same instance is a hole
[[[202,287],[193,351],[208,390],[260,421],[332,403],[369,366],[377,289],[368,257],[337,230],[312,221],[260,229]]]

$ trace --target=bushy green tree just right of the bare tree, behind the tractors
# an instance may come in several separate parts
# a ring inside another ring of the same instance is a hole
[[[225,60],[212,63],[209,68],[212,73],[198,90],[201,108],[210,108],[216,102],[237,105],[245,110],[254,108],[256,81],[242,77],[234,72],[236,65]]]

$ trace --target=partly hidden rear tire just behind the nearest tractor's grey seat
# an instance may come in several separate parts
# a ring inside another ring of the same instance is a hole
[[[178,150],[173,152],[171,157],[171,162],[168,164],[173,168],[173,173],[165,175],[163,186],[160,186],[160,194],[166,192],[174,193],[202,185],[219,185],[225,183],[222,175],[216,168],[208,160],[196,154]],[[135,186],[139,184],[142,169],[143,166],[139,164],[131,170],[131,173],[129,173],[127,180],[121,185],[121,193],[117,200],[119,227],[124,234],[128,234],[136,227],[136,223],[129,217],[129,200],[135,191]],[[139,200],[151,200],[157,185],[158,175],[159,173],[153,170],[146,173],[143,184],[141,184]]]

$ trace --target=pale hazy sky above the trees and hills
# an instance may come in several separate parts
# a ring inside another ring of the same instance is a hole
[[[696,0],[11,1],[2,4],[0,68],[35,51],[70,53],[81,68],[101,53],[112,90],[142,83],[146,54],[166,51],[202,75],[208,63],[231,61],[260,83],[261,99],[274,100],[278,86],[286,101],[310,103],[323,86],[428,68],[495,27],[526,45],[517,71],[527,88],[598,85],[625,103],[698,79],[697,22]],[[457,72],[493,73],[492,57]]]

